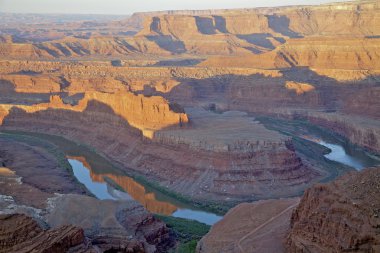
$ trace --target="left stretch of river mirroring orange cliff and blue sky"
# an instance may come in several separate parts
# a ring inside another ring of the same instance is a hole
[[[49,134],[9,132],[36,137],[56,145],[66,155],[75,178],[98,199],[136,200],[152,213],[196,220],[207,225],[213,225],[223,218],[137,182],[91,147]]]

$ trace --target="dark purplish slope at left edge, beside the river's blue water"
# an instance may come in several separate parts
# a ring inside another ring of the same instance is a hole
[[[12,174],[0,176],[0,195],[12,196],[19,205],[43,209],[46,199],[55,193],[87,194],[85,188],[71,177],[71,171],[66,167],[68,163],[58,162],[53,154],[64,156],[51,144],[33,139],[23,142],[22,138],[15,141],[1,134],[0,166],[8,168]]]

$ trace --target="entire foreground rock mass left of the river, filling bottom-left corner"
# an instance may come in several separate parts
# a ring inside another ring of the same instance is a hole
[[[88,196],[54,145],[12,134],[0,143],[1,252],[167,252],[174,245],[166,225],[137,202]]]

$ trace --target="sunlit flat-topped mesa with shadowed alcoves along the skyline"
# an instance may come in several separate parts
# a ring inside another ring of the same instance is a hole
[[[379,34],[377,1],[333,3],[319,6],[278,8],[173,11],[146,13],[140,34],[165,34],[182,38],[216,33],[297,36],[374,36]],[[179,20],[187,20],[183,34]],[[177,23],[178,22],[178,23]],[[334,23],[334,26],[330,24]]]

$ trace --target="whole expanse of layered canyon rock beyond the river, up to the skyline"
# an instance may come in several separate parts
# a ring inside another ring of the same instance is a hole
[[[377,151],[378,9],[145,13],[134,36],[2,38],[2,128],[86,143],[191,197],[296,194],[321,175],[292,140],[230,111],[308,119]]]

